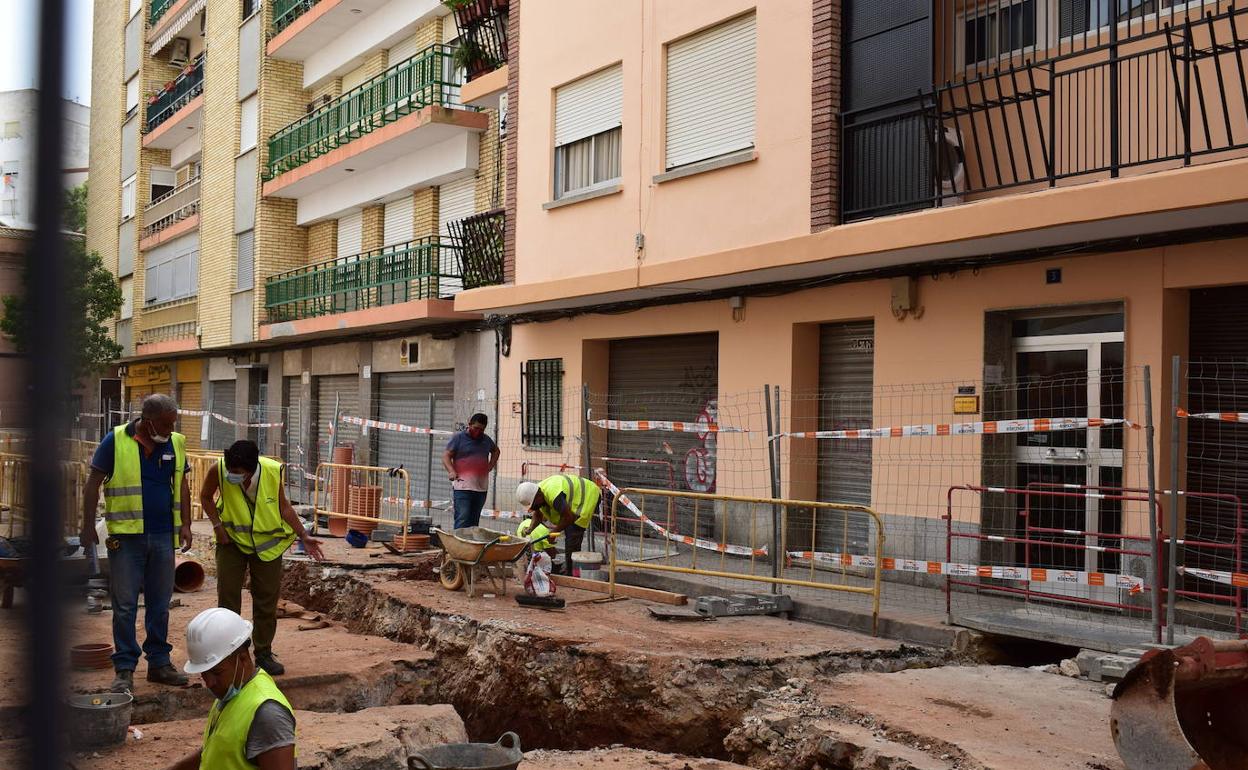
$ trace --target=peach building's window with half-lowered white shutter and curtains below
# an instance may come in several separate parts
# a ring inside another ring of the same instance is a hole
[[[555,200],[619,181],[623,86],[615,65],[555,91]]]

